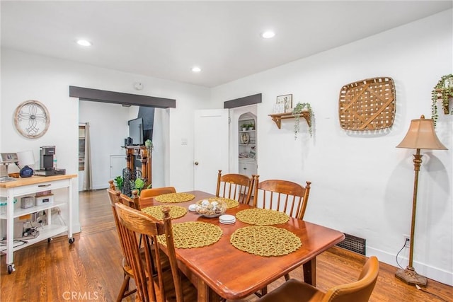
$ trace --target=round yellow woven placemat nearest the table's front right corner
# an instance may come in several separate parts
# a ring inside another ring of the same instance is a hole
[[[288,255],[302,246],[299,237],[275,226],[246,226],[231,234],[231,244],[244,252],[260,256]]]

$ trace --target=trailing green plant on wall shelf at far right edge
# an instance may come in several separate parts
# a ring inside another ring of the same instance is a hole
[[[447,74],[442,76],[439,81],[437,81],[436,86],[432,88],[431,91],[431,118],[434,122],[434,127],[436,126],[437,118],[437,100],[442,100],[442,108],[444,114],[453,114],[452,111],[449,112],[449,98],[453,97],[453,74]]]

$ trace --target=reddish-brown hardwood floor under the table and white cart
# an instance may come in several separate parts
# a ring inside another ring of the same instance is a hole
[[[8,274],[1,256],[0,301],[115,301],[122,283],[120,244],[105,190],[79,194],[82,232],[69,245],[55,238],[14,253],[16,272]],[[331,248],[317,257],[317,286],[323,290],[355,281],[365,257]],[[453,301],[453,287],[429,280],[422,290],[394,277],[396,267],[381,263],[379,279],[369,301]],[[302,268],[291,277],[303,279]],[[283,278],[268,286],[274,289]],[[131,282],[133,285],[133,281]],[[250,296],[242,301],[256,301]],[[123,301],[134,301],[134,295]]]

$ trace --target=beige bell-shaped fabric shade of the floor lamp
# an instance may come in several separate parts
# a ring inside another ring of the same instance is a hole
[[[406,137],[396,148],[447,150],[437,138],[434,122],[425,119],[423,115],[420,119],[411,121]]]

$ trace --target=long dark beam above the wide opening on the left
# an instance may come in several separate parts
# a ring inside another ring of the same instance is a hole
[[[170,98],[156,98],[155,96],[120,93],[115,91],[101,91],[99,89],[69,86],[69,96],[79,100],[93,102],[134,105],[154,108],[176,108],[176,100]]]

